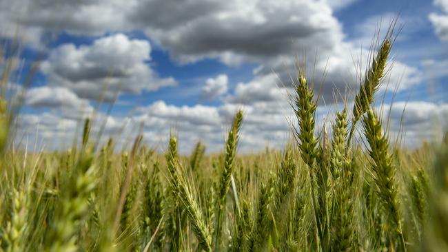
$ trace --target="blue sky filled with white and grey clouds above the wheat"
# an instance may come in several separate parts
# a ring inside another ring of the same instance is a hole
[[[318,127],[330,128],[343,101],[353,106],[372,41],[393,19],[399,32],[375,105],[389,134],[416,147],[448,125],[447,0],[0,0],[0,41],[17,75],[10,90],[24,90],[17,139],[67,148],[91,117],[94,137],[121,147],[141,132],[163,150],[174,133],[181,152],[198,140],[221,151],[243,109],[241,151],[281,148],[295,120],[297,63],[314,83]]]

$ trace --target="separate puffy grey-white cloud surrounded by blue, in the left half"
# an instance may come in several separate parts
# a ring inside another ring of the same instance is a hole
[[[66,87],[81,98],[112,101],[116,92],[141,94],[176,85],[173,78],[159,78],[146,64],[150,52],[148,41],[113,34],[92,45],[60,45],[50,52],[41,70],[50,86]]]

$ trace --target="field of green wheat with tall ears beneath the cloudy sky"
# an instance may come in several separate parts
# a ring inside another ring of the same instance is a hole
[[[0,251],[448,251],[447,138],[396,146],[373,105],[392,34],[330,134],[316,127],[314,88],[298,70],[294,138],[281,151],[238,154],[238,111],[222,154],[197,143],[181,156],[174,133],[165,154],[141,136],[117,153],[112,138],[94,144],[89,119],[79,145],[27,152],[10,137],[3,92]]]

